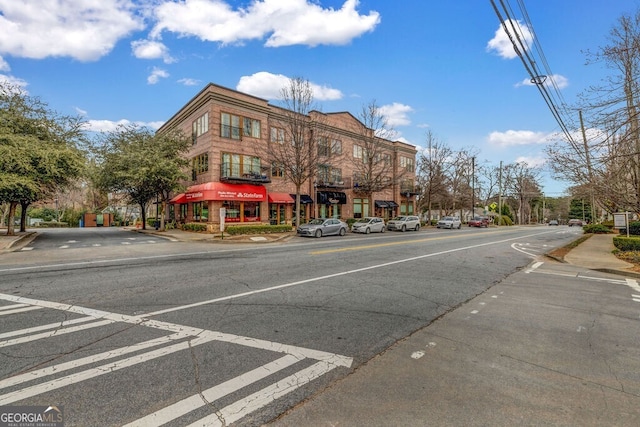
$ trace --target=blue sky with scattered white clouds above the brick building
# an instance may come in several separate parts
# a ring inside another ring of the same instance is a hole
[[[571,106],[611,72],[585,52],[640,0],[505,4]],[[478,163],[543,165],[560,127],[504,41],[490,0],[0,0],[0,80],[92,130],[157,128],[209,82],[277,104],[302,77],[322,111],[375,100],[418,147],[430,130]],[[566,185],[545,174],[547,195]]]

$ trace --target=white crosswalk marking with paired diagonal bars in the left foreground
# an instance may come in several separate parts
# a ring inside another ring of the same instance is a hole
[[[0,390],[6,391],[6,393],[0,395],[0,405],[7,405],[38,396],[43,393],[49,393],[69,385],[149,362],[179,351],[188,351],[193,347],[211,342],[232,343],[234,345],[259,350],[268,350],[282,354],[281,357],[258,368],[242,373],[235,378],[231,378],[223,382],[222,384],[214,385],[197,395],[187,397],[175,404],[169,405],[156,412],[143,416],[138,420],[132,421],[129,424],[130,426],[155,426],[165,424],[203,407],[207,402],[214,403],[231,393],[235,393],[245,387],[255,384],[257,381],[273,376],[274,382],[271,385],[268,385],[249,396],[240,398],[235,403],[231,403],[220,411],[217,411],[214,415],[203,418],[196,423],[197,425],[226,425],[227,423],[235,422],[246,415],[263,408],[264,406],[272,403],[275,399],[295,391],[299,387],[320,378],[333,369],[339,367],[349,368],[353,361],[350,357],[341,356],[335,353],[150,319],[151,316],[156,315],[157,313],[129,316],[76,305],[35,300],[8,294],[0,294],[0,300],[15,303],[0,307],[0,313],[10,313],[26,308],[37,308],[61,310],[67,313],[83,315],[83,317],[64,322],[49,323],[16,331],[4,332],[0,334],[0,347],[8,347],[39,339],[57,337],[59,335],[80,332],[89,328],[105,326],[118,322],[144,326],[170,333],[163,337],[111,349],[99,354],[25,372],[0,380]],[[148,351],[141,352],[143,350]],[[135,354],[124,357],[132,353]],[[308,359],[315,360],[315,363],[301,368],[299,371],[290,374],[286,378],[277,378],[279,374],[280,376],[283,375],[281,371],[286,368],[290,368],[293,365],[298,363],[306,363],[308,365],[308,362],[305,362],[305,360]],[[95,366],[96,363],[100,362],[106,363]],[[88,365],[91,365],[92,367],[84,369],[84,367]],[[70,373],[65,376],[59,376],[65,371],[70,371]],[[50,378],[52,376],[54,376],[54,378]],[[30,382],[34,384],[28,385]],[[23,388],[11,391],[7,390],[9,388],[15,388],[16,386],[22,385],[24,385]],[[220,416],[222,418],[220,418]]]

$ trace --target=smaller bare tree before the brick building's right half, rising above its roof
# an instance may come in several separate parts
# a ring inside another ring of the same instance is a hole
[[[359,138],[353,156],[348,158],[353,163],[354,191],[369,199],[369,206],[373,206],[373,193],[392,188],[404,174],[394,174],[390,141],[397,134],[375,100],[362,106],[358,119],[362,125],[355,130]]]

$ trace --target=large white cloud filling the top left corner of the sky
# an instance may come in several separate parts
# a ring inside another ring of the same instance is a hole
[[[125,0],[0,0],[0,54],[92,61],[143,28]]]

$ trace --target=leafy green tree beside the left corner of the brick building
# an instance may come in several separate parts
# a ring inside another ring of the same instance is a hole
[[[139,126],[120,126],[104,135],[96,148],[96,184],[104,191],[125,194],[140,206],[142,228],[146,229],[146,208],[158,198],[162,203],[160,229],[164,230],[166,206],[172,192],[182,188],[188,177],[185,155],[190,139],[173,131],[154,134]]]

